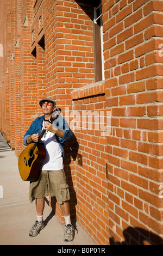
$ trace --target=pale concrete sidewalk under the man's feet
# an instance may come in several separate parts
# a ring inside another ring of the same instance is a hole
[[[64,242],[64,225],[45,204],[46,227],[30,237],[29,230],[36,221],[35,202],[28,199],[29,181],[18,172],[17,157],[0,133],[0,245],[95,245],[77,224],[74,240]]]

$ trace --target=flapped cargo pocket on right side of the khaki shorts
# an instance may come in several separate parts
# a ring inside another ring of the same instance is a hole
[[[66,184],[66,183],[58,184],[57,200],[59,202],[66,202],[66,201],[70,200],[68,184]]]

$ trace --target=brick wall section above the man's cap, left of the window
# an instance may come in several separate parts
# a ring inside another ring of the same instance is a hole
[[[84,8],[75,1],[45,3],[46,84],[62,106],[72,105],[73,88],[94,79],[92,21]]]

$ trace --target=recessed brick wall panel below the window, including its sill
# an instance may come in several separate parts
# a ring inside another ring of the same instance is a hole
[[[107,145],[103,137],[106,120],[104,84],[88,86],[72,94],[74,120],[70,122],[78,138],[78,154],[83,164],[76,164],[77,216],[82,226],[98,244],[109,241]],[[104,122],[104,125],[102,123]]]

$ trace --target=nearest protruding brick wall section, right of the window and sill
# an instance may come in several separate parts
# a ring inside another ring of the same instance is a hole
[[[162,7],[162,1],[103,1],[112,242],[139,243],[141,228],[148,239],[162,236]],[[129,236],[134,231],[137,239]]]

